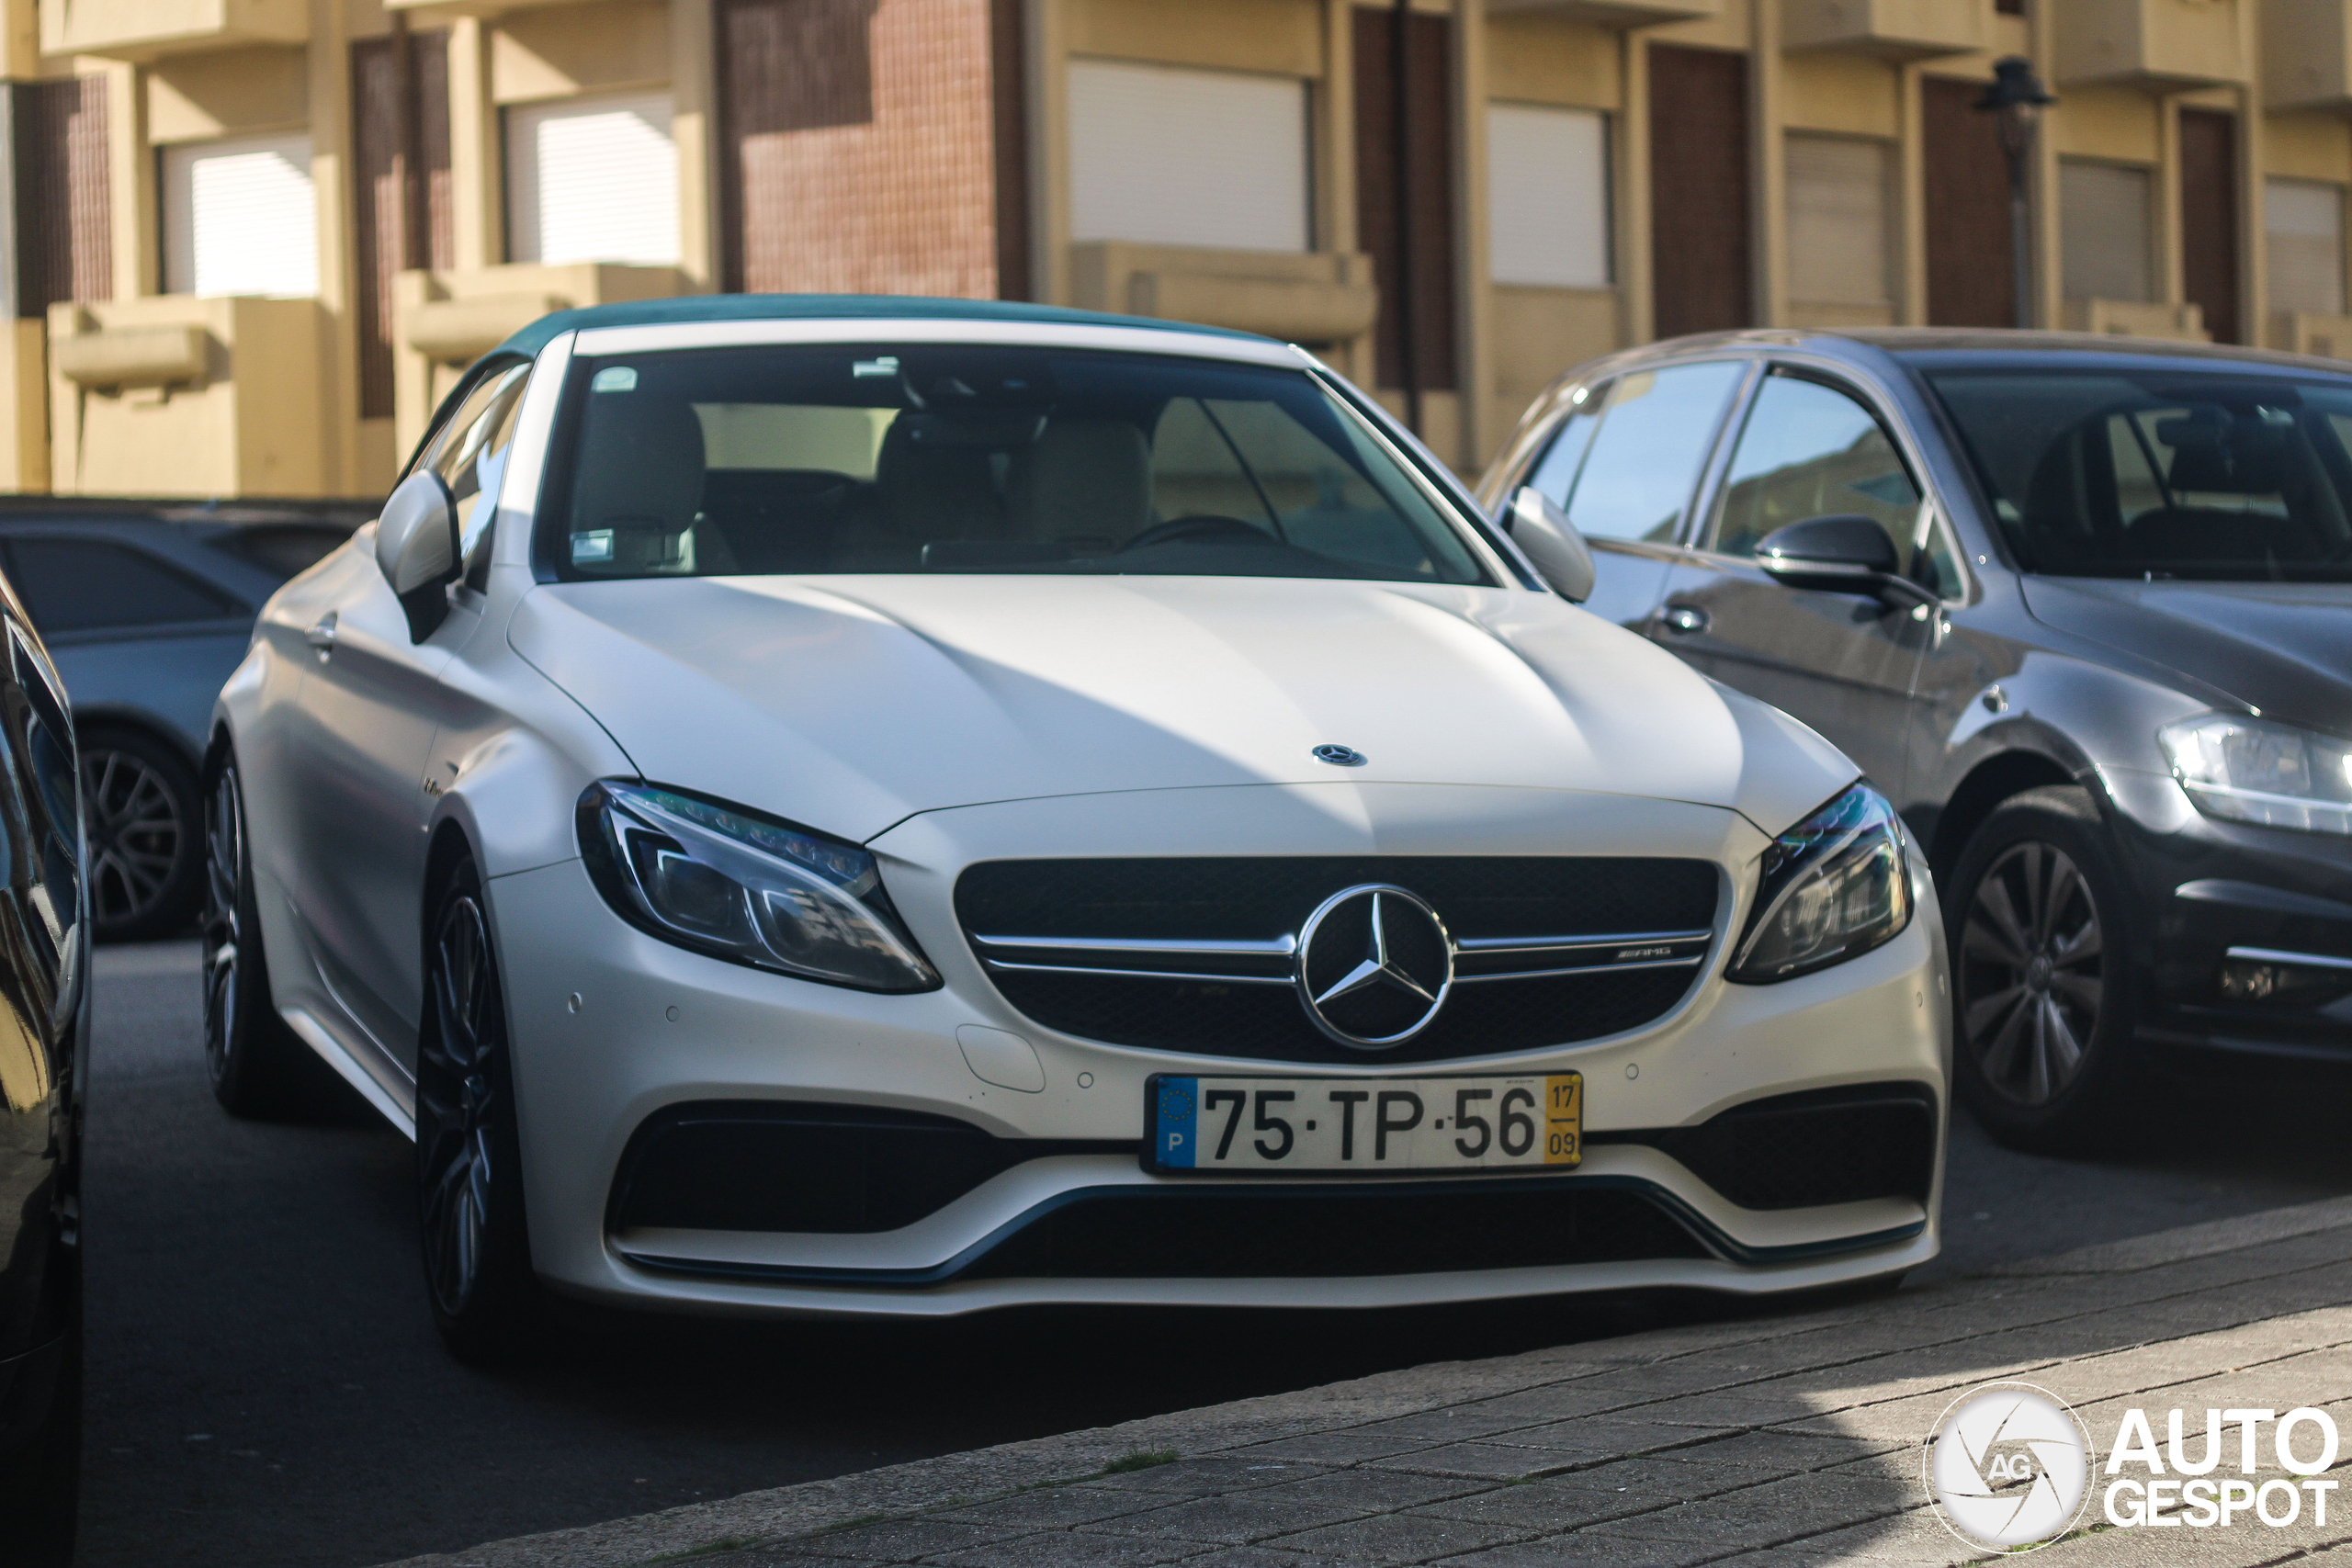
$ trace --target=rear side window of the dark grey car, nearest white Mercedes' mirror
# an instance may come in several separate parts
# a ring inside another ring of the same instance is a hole
[[[1743,360],[1712,360],[1621,376],[1562,508],[1569,522],[1592,538],[1672,543],[1745,374]]]

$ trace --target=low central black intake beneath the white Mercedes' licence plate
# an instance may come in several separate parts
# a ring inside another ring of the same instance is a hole
[[[1653,1201],[1611,1187],[1228,1187],[1065,1204],[964,1279],[1329,1279],[1705,1255]]]

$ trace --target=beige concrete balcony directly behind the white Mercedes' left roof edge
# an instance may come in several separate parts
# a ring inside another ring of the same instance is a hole
[[[466,367],[550,310],[691,294],[666,266],[581,261],[393,280],[393,449],[407,458]]]

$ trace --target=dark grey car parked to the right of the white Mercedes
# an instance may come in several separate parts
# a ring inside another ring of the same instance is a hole
[[[1959,1091],[2119,1131],[2147,1070],[2352,1063],[2352,374],[2009,331],[1585,364],[1486,475],[1590,609],[1842,745],[1929,846]]]

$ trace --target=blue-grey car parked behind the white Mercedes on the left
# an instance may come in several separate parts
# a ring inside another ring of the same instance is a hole
[[[365,517],[47,498],[0,510],[0,569],[75,698],[99,940],[195,917],[212,698],[261,602]]]

